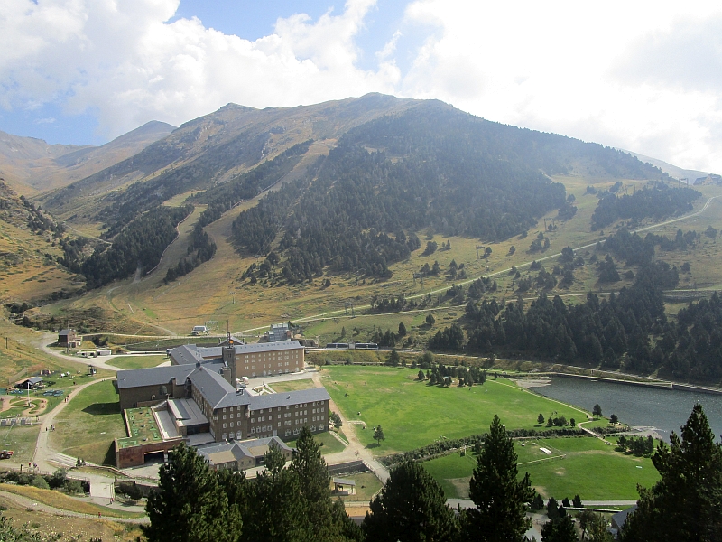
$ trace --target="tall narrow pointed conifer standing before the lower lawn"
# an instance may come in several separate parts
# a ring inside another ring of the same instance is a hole
[[[469,498],[477,505],[468,509],[463,521],[465,537],[488,542],[523,540],[531,527],[526,503],[534,491],[527,472],[517,480],[514,443],[506,435],[499,416],[494,416],[477,467],[469,482]]]

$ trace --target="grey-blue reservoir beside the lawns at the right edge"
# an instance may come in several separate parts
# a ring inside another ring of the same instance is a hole
[[[653,425],[668,442],[671,431],[680,435],[692,407],[700,403],[715,440],[722,440],[722,395],[564,377],[552,377],[548,386],[531,389],[589,412],[598,404],[604,416],[616,414],[628,425]]]

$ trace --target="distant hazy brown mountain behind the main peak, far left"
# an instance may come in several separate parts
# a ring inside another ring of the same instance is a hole
[[[0,175],[26,195],[66,186],[143,150],[175,127],[151,121],[101,146],[48,145],[0,132]]]

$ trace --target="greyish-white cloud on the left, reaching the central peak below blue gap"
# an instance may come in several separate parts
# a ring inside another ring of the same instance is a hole
[[[279,19],[256,42],[167,23],[178,0],[5,0],[0,5],[0,106],[60,101],[96,110],[106,135],[151,119],[180,124],[236,102],[293,106],[393,93],[393,63],[359,70],[354,37],[375,0],[348,0],[318,21]],[[8,52],[8,54],[5,54]]]

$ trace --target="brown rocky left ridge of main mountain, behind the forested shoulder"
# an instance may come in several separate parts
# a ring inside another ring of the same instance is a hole
[[[292,145],[313,139],[326,142],[328,151],[354,126],[426,103],[369,94],[302,107],[228,104],[183,124],[142,152],[43,197],[42,204],[63,219],[100,221],[109,228],[180,193],[226,182]]]

